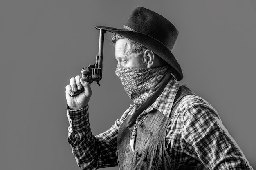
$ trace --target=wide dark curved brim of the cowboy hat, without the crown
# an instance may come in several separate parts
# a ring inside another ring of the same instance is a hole
[[[175,59],[173,53],[160,41],[156,40],[155,38],[135,32],[135,31],[128,31],[126,29],[117,29],[112,27],[106,27],[106,26],[95,26],[96,29],[103,29],[112,33],[117,33],[119,35],[124,36],[125,38],[128,38],[130,40],[133,40],[146,48],[150,49],[159,57],[161,57],[164,61],[166,61],[169,65],[171,65],[176,73],[177,73],[177,80],[181,80],[183,78],[182,70],[180,68],[180,64]]]

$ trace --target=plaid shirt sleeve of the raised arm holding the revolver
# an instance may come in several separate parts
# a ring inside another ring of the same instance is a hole
[[[116,120],[110,129],[94,136],[90,129],[88,105],[80,110],[70,110],[67,106],[69,120],[68,138],[76,162],[81,169],[118,166],[116,159],[117,133],[129,110]]]

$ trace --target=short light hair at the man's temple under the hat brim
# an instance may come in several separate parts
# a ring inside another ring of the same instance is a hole
[[[115,44],[117,42],[117,40],[120,40],[120,39],[126,39],[127,40],[127,50],[130,51],[131,53],[135,53],[136,56],[144,53],[144,51],[147,50],[147,48],[135,41],[132,41],[128,38],[125,38],[124,36],[122,35],[119,35],[119,34],[116,34],[116,33],[113,33],[112,34],[112,42]]]

